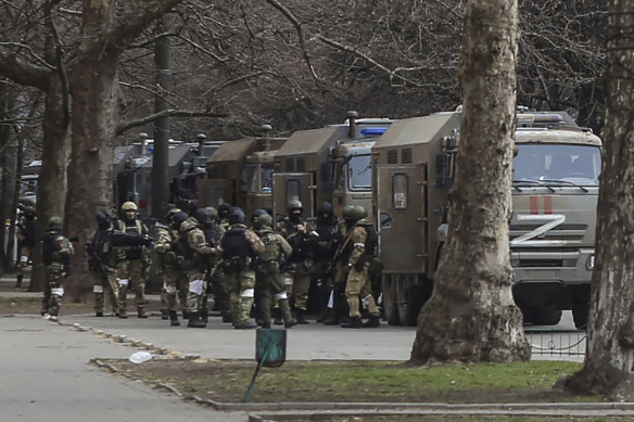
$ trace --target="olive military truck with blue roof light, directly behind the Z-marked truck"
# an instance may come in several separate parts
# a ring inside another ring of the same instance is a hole
[[[348,112],[344,124],[300,130],[275,154],[274,215],[300,200],[304,217],[314,218],[319,205],[332,203],[341,216],[347,204],[371,207],[371,146],[392,123],[388,118],[357,119]]]

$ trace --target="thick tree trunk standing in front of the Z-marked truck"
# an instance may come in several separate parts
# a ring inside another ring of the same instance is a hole
[[[508,244],[517,39],[516,1],[469,2],[451,228],[433,295],[419,316],[414,363],[525,361],[531,355],[512,299]]]

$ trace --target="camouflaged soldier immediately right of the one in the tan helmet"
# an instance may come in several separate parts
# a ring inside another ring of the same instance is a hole
[[[176,216],[178,215],[178,218]],[[178,208],[172,208],[165,216],[165,221],[169,226],[156,223],[156,273],[163,277],[163,290],[166,295],[167,315],[170,325],[178,327],[177,296],[180,297],[180,306],[183,318],[187,317],[187,279],[180,268],[178,257],[172,245],[178,239],[178,228],[185,221],[187,215]]]

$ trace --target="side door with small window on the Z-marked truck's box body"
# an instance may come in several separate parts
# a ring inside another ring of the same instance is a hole
[[[427,213],[422,164],[377,166],[377,226],[383,273],[426,270]]]

